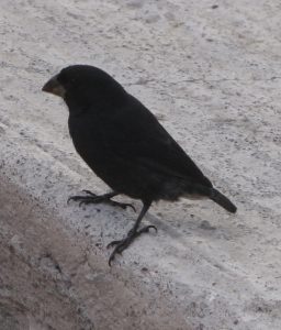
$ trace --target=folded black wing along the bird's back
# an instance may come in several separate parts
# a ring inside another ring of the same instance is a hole
[[[212,187],[195,163],[161,127],[155,116],[130,96],[126,107],[119,108],[108,121],[106,141],[120,156],[142,164],[153,172],[189,179]]]

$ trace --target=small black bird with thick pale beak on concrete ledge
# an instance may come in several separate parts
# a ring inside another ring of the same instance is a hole
[[[140,228],[153,202],[179,198],[211,199],[228,212],[236,206],[216,188],[172,139],[157,118],[111,75],[90,65],[70,65],[42,88],[64,99],[74,146],[93,173],[111,191],[72,196],[81,204],[108,202],[123,209],[134,207],[112,198],[125,195],[142,201],[142,210],[127,234],[111,242],[109,257],[116,254],[155,226]]]

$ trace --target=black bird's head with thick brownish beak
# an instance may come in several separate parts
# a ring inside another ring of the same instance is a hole
[[[61,97],[71,107],[94,106],[102,101],[117,101],[125,90],[105,72],[90,65],[68,66],[52,77],[43,91]]]

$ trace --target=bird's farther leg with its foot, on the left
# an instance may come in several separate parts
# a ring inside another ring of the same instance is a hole
[[[117,196],[119,193],[112,191],[112,193],[98,196],[91,193],[90,190],[83,190],[83,191],[87,194],[87,196],[71,196],[68,198],[67,202],[69,202],[70,200],[79,201],[79,206],[83,204],[88,205],[88,204],[105,202],[111,206],[121,207],[122,209],[126,209],[127,207],[131,207],[134,211],[136,211],[132,204],[119,202],[111,199],[112,197]]]

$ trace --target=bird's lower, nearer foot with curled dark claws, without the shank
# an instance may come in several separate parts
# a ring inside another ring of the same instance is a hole
[[[109,243],[108,248],[114,248],[113,252],[110,255],[109,258],[109,265],[111,266],[112,261],[115,257],[115,254],[122,254],[122,252],[127,249],[128,245],[131,245],[131,243],[137,238],[139,237],[142,233],[145,232],[149,232],[149,229],[154,229],[155,231],[157,231],[157,228],[155,226],[146,226],[137,231],[133,231],[131,230],[127,233],[127,237],[123,240],[120,241],[112,241],[111,243]]]

